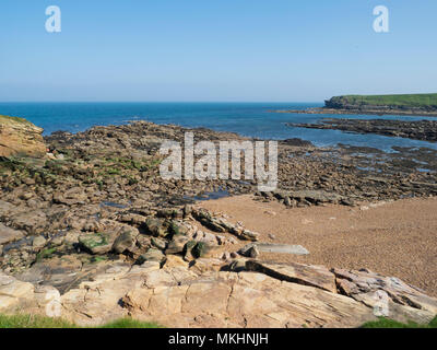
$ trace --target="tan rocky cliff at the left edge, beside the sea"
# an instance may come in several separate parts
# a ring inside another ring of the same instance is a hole
[[[25,119],[0,115],[0,156],[44,156],[42,133],[42,128]]]

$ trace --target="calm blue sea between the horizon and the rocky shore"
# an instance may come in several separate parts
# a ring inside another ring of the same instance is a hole
[[[316,122],[338,115],[303,115],[269,113],[269,109],[305,109],[320,107],[318,103],[0,103],[0,115],[24,117],[44,128],[45,135],[57,130],[78,132],[97,125],[120,125],[130,120],[176,124],[185,127],[206,127],[234,131],[261,139],[302,138],[316,145],[374,147],[391,151],[391,147],[427,147],[437,143],[377,135],[355,135],[339,130],[290,128],[284,124]],[[367,118],[375,116],[346,116]],[[387,119],[420,120],[426,117],[385,116]],[[429,118],[433,119],[433,118]]]

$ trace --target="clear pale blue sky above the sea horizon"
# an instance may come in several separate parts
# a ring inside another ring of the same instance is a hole
[[[62,32],[45,31],[48,5]],[[390,10],[375,33],[373,9]],[[437,92],[436,0],[1,0],[0,101]]]

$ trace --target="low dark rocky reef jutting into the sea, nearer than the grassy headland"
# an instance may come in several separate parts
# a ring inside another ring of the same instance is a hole
[[[397,138],[422,141],[437,141],[437,121],[386,120],[386,119],[330,119],[323,118],[318,124],[287,122],[290,127],[341,130],[357,133],[376,133]]]

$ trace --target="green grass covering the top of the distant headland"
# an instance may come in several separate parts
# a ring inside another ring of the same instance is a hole
[[[344,95],[331,98],[334,103],[353,105],[383,105],[395,107],[430,107],[437,106],[437,94],[404,95]]]

